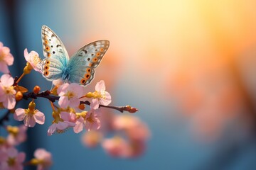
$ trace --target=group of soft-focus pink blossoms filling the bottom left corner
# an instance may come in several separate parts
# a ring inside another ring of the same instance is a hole
[[[34,152],[34,158],[28,162],[24,162],[26,154],[24,152],[18,152],[16,146],[26,141],[27,127],[25,125],[5,127],[8,132],[7,137],[0,136],[0,169],[5,170],[19,170],[23,169],[23,165],[37,166],[38,170],[48,169],[52,164],[52,157],[50,152],[46,149],[36,149]]]

